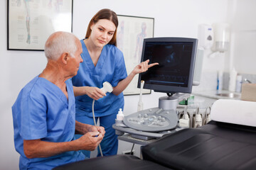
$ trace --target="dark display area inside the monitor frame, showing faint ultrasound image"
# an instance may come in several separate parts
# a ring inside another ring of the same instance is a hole
[[[146,42],[144,61],[158,62],[142,74],[146,84],[188,87],[193,42]]]

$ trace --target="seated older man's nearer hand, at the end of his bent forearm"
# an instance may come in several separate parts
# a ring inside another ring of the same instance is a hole
[[[80,150],[89,150],[93,151],[102,141],[103,136],[100,132],[87,132],[85,135],[82,135],[77,141],[80,147]]]

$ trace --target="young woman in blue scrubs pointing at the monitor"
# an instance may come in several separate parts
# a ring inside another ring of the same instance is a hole
[[[105,137],[100,143],[103,155],[117,154],[117,135],[112,128],[119,108],[124,108],[122,91],[134,76],[146,72],[158,63],[142,62],[127,77],[124,56],[117,45],[117,14],[110,9],[98,11],[91,19],[82,43],[82,60],[78,74],[73,77],[76,105],[76,120],[93,125],[92,101],[95,100],[95,119],[105,128]],[[113,86],[112,93],[105,94],[100,88],[108,81]],[[86,94],[80,96],[81,94]],[[78,137],[78,136],[77,136]],[[90,152],[85,151],[90,157]],[[100,153],[98,152],[98,155]]]

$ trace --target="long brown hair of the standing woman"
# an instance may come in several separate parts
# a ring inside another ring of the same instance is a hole
[[[114,26],[116,26],[114,35],[108,44],[117,46],[117,26],[118,26],[117,14],[108,8],[104,8],[104,9],[98,11],[95,14],[95,16],[92,17],[92,19],[87,27],[87,32],[86,32],[85,38],[89,38],[92,33],[92,30],[90,29],[90,27],[92,26],[92,23],[97,23],[97,21],[99,21],[101,19],[110,20],[114,23]]]

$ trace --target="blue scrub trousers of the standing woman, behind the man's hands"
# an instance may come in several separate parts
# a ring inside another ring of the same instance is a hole
[[[98,118],[100,119],[100,126],[105,128],[105,136],[103,137],[102,142],[100,142],[100,146],[102,148],[102,154],[104,156],[117,154],[118,149],[118,140],[117,135],[115,135],[115,130],[112,128],[112,125],[115,123],[115,119],[117,118],[117,114],[105,115],[102,117],[95,117],[95,121],[97,123]],[[94,125],[93,118],[88,117],[86,115],[76,117],[76,120],[81,123]],[[75,138],[78,139],[82,135],[75,135]],[[97,152],[97,157],[101,157],[99,147]],[[85,154],[86,157],[90,158],[90,151],[82,150],[82,153]]]

